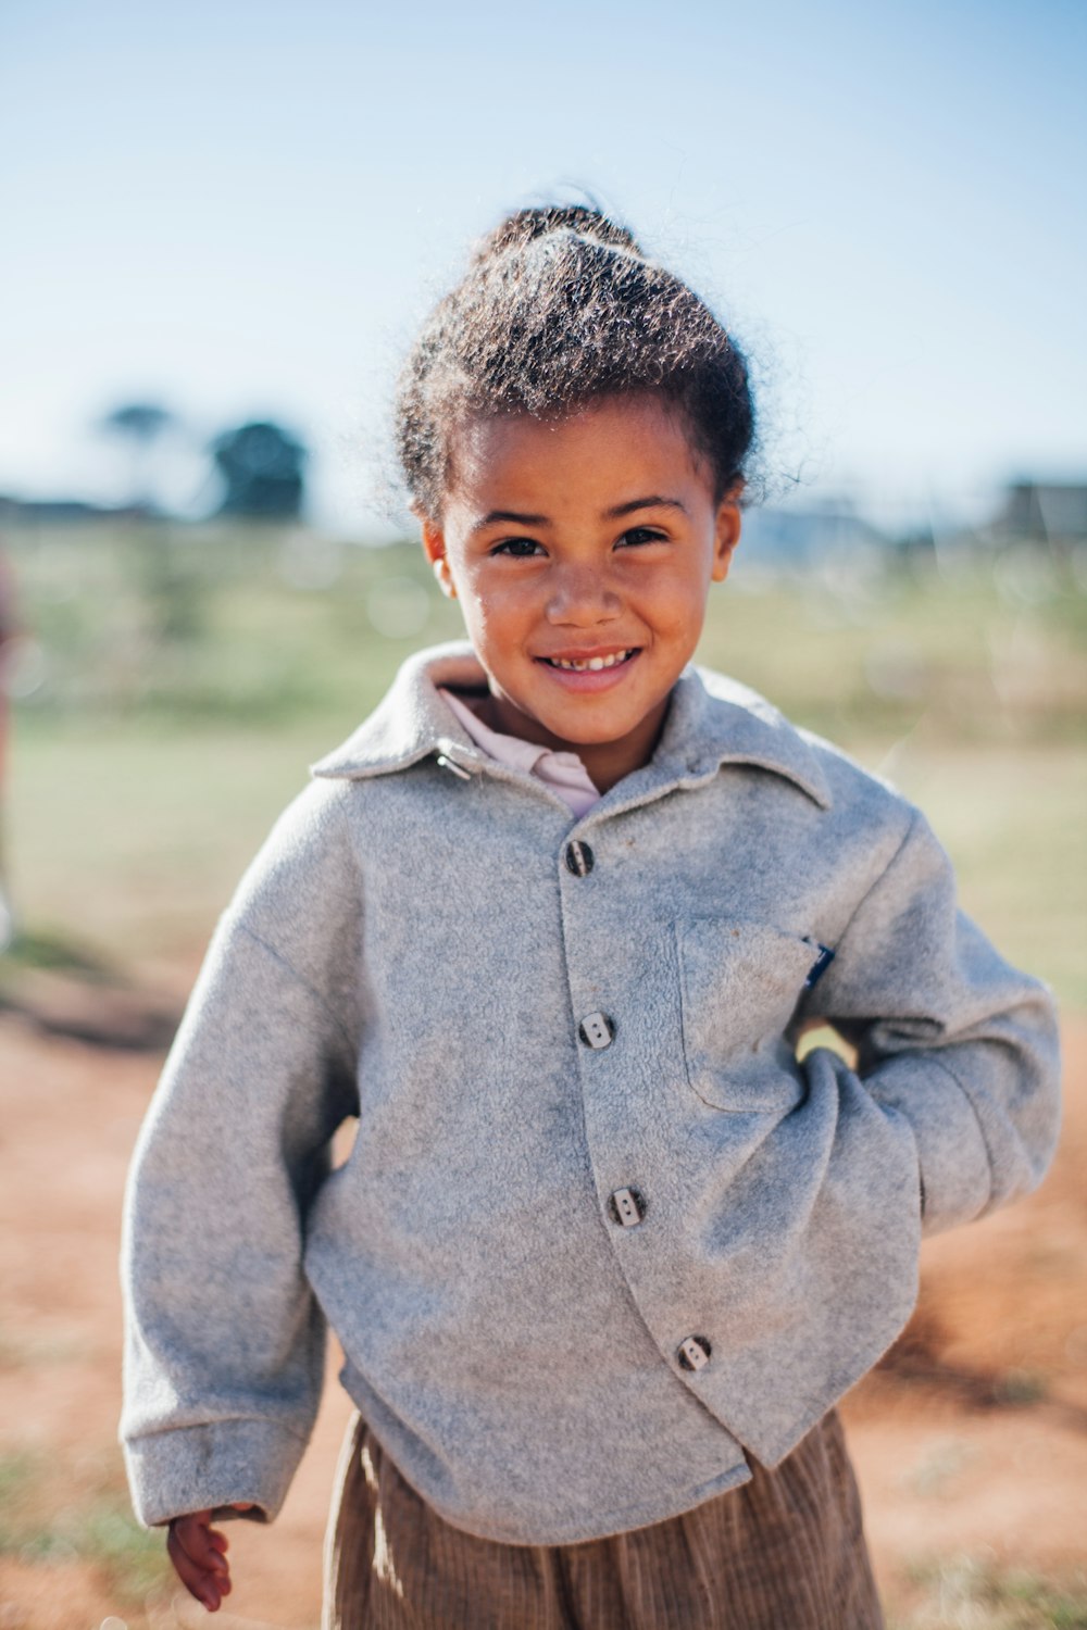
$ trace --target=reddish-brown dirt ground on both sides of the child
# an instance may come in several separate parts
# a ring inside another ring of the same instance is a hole
[[[1066,1024],[1066,1050],[1053,1174],[1019,1206],[927,1242],[914,1320],[844,1405],[900,1623],[922,1622],[911,1615],[940,1566],[1069,1581],[1087,1563],[1087,1020]],[[124,1516],[114,1443],[117,1216],[156,1069],[153,1051],[0,1014],[0,1630],[209,1622],[161,1583],[160,1537],[142,1544]],[[220,1630],[318,1623],[345,1420],[331,1386],[280,1521],[233,1524]]]

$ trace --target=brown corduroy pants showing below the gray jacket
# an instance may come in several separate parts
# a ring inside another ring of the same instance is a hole
[[[360,1418],[329,1521],[324,1630],[882,1630],[860,1498],[831,1410],[768,1472],[583,1545],[451,1527]]]

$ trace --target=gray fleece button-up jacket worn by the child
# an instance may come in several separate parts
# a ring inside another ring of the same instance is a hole
[[[326,1324],[447,1521],[567,1544],[689,1509],[880,1358],[922,1229],[1053,1152],[1050,996],[957,914],[898,794],[688,672],[652,763],[572,822],[437,685],[482,685],[466,645],[406,663],[315,766],[140,1134],[122,1438],[145,1522],[275,1514]],[[815,1019],[856,1069],[797,1063]]]

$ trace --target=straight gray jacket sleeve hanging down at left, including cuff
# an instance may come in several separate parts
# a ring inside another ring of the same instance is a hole
[[[132,1161],[121,1438],[145,1524],[269,1521],[316,1416],[306,1213],[357,1110],[360,913],[328,802],[292,805],[220,919]]]

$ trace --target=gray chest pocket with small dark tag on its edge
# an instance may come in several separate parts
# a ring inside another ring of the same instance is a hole
[[[676,944],[691,1090],[719,1110],[787,1113],[803,1097],[803,1081],[782,1032],[820,945],[727,918],[678,923]]]

